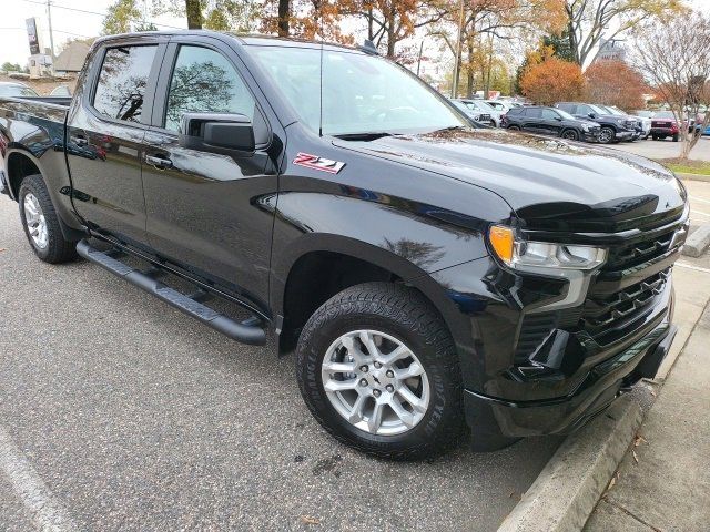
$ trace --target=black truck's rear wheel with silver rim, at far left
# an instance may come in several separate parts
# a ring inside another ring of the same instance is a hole
[[[40,174],[22,180],[18,203],[24,235],[41,260],[60,264],[77,258],[77,243],[64,239],[59,216]]]

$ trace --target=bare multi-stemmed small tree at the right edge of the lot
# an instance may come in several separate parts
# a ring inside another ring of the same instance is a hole
[[[663,39],[658,39],[658,34]],[[667,103],[679,124],[694,120],[710,106],[710,17],[692,12],[666,22],[662,28],[636,31],[635,62],[656,93]],[[704,113],[704,130],[710,113]],[[686,160],[699,135],[680,127],[680,158]]]

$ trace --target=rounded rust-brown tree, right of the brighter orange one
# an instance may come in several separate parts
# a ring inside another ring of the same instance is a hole
[[[623,61],[595,61],[585,72],[586,99],[625,111],[642,109],[648,86],[643,76]]]

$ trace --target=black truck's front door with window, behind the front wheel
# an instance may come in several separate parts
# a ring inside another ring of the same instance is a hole
[[[159,255],[252,299],[267,299],[280,142],[230,50],[204,38],[171,42],[161,71],[155,127],[145,135],[146,227]],[[232,52],[233,53],[233,52]],[[164,78],[164,79],[163,79]],[[163,89],[160,89],[163,88]],[[164,91],[164,92],[162,92]],[[237,113],[252,119],[250,155],[180,145],[185,113]]]

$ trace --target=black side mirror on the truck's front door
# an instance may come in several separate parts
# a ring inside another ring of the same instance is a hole
[[[254,153],[254,127],[248,116],[227,113],[185,113],[180,145],[201,152]]]

